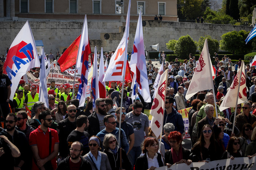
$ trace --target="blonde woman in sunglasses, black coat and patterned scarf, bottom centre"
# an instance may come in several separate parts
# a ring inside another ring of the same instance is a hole
[[[109,163],[112,170],[130,170],[132,164],[129,161],[124,149],[117,146],[116,137],[113,134],[106,134],[103,140],[103,146],[105,147],[104,153],[108,155]],[[121,151],[120,151],[121,150]],[[121,152],[121,155],[120,155]],[[122,165],[120,166],[120,158]]]

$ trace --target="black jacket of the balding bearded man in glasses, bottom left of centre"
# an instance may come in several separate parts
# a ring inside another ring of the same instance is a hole
[[[70,170],[69,169],[69,159],[70,159],[70,156],[63,159],[62,161],[60,161],[60,163],[58,164],[58,167],[56,170]],[[79,168],[79,170],[91,170],[91,164],[89,161],[87,161],[86,159],[84,159],[82,156],[80,156],[80,159],[81,159],[81,166]]]

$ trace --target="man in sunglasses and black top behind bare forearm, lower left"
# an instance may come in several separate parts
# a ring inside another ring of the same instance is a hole
[[[5,119],[6,129],[0,132],[0,136],[4,135],[20,150],[20,157],[15,158],[14,169],[26,169],[24,164],[27,161],[28,155],[27,150],[29,150],[29,143],[27,142],[24,133],[15,129],[17,124],[17,116],[14,113],[7,115]]]

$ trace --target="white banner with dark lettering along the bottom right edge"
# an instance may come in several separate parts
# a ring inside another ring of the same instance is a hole
[[[171,167],[163,166],[155,170],[255,170],[255,157],[249,159],[248,157],[223,159],[212,162],[193,162],[190,165],[185,163],[176,164]]]

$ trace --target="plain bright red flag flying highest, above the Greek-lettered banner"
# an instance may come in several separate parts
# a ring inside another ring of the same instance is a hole
[[[79,35],[76,40],[65,50],[65,52],[61,55],[58,63],[60,64],[60,70],[65,71],[69,67],[74,66],[76,64],[76,57],[78,53],[78,47],[80,43],[81,35]]]

